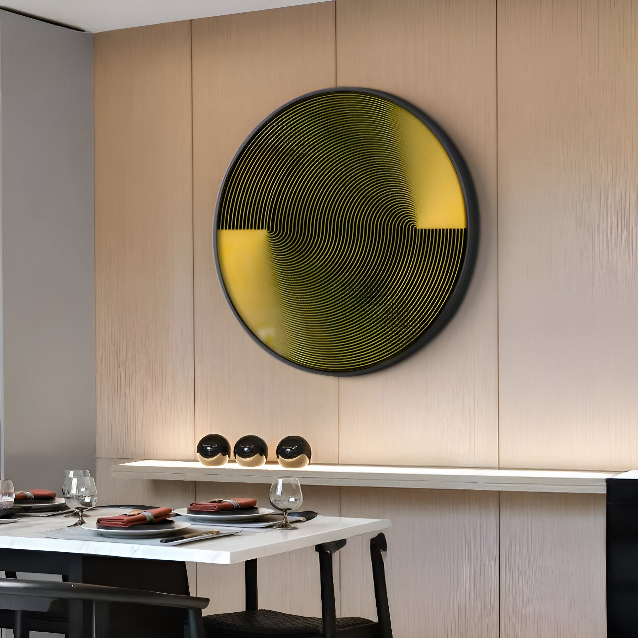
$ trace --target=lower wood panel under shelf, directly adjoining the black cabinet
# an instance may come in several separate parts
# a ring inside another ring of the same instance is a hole
[[[601,638],[605,496],[501,493],[501,638]]]

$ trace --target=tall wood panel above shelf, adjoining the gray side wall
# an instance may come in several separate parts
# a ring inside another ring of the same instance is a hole
[[[96,34],[98,456],[193,456],[190,23]]]

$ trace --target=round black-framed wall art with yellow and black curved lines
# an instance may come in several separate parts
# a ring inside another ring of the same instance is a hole
[[[470,172],[439,126],[395,96],[339,88],[278,108],[244,141],[213,247],[257,343],[311,372],[359,375],[450,320],[478,230]]]

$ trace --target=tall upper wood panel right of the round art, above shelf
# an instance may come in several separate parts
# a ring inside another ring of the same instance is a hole
[[[638,4],[501,0],[500,453],[638,463]]]

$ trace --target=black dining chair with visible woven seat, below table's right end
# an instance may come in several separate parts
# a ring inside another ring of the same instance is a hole
[[[385,535],[370,540],[370,558],[375,586],[377,620],[336,618],[332,556],[345,540],[316,545],[319,554],[322,618],[295,616],[271,609],[258,609],[257,561],[246,561],[246,611],[204,616],[205,638],[392,638],[390,607],[385,584],[383,553]]]

